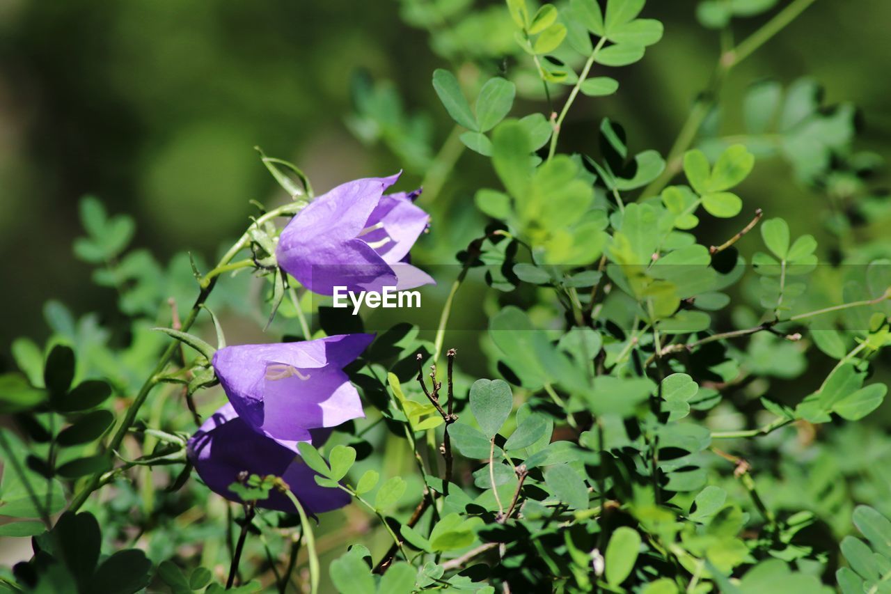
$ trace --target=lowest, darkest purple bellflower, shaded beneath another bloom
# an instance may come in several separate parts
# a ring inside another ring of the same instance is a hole
[[[322,445],[329,433],[325,429],[313,430],[313,445]],[[188,442],[188,455],[211,491],[233,501],[240,499],[229,491],[229,486],[238,482],[242,472],[281,476],[309,514],[344,507],[350,501],[347,492],[315,483],[316,473],[299,456],[254,431],[238,416],[232,404],[217,410],[192,435]],[[297,513],[290,499],[275,490],[269,492],[269,499],[257,501],[257,506]]]

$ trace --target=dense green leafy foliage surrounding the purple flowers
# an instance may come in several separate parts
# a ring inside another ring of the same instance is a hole
[[[891,441],[872,419],[891,251],[866,180],[880,160],[854,151],[854,108],[824,105],[813,80],[722,88],[806,3],[748,37],[736,21],[774,0],[697,4],[722,55],[710,87],[683,88],[697,99],[683,128],[666,124],[680,130],[668,154],[590,118],[641,115],[622,94],[649,78],[625,85],[617,69],[664,65],[634,66],[663,36],[643,0],[398,4],[443,68],[405,93],[357,73],[347,127],[424,176],[431,233],[413,264],[457,252],[458,271],[383,327],[339,315],[278,268],[277,217],[314,190],[262,152],[291,202],[256,202],[214,268],[128,249],[134,219],[83,200],[74,252],[118,311],[78,318],[50,301],[45,344],[12,343],[0,536],[33,537],[35,554],[4,588],[816,592],[837,569],[843,592],[887,590]],[[427,95],[441,105],[421,109]],[[741,128],[722,121],[736,111]],[[806,187],[808,217],[784,210],[772,156]],[[459,327],[459,310],[486,331]],[[264,324],[265,342],[374,332],[346,369],[365,417],[298,444],[315,484],[245,469],[224,503],[186,445],[224,398],[207,339],[224,348],[224,327]],[[312,517],[301,487],[354,505]],[[296,515],[264,508],[282,497]]]

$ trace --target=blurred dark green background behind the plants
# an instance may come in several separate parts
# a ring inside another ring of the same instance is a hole
[[[666,153],[717,53],[717,35],[697,24],[695,5],[648,4],[645,15],[665,22],[663,41],[617,71],[617,95],[576,104],[574,129],[561,137],[568,148],[594,144],[609,115],[633,149]],[[77,314],[115,309],[114,292],[93,285],[90,268],[71,253],[83,194],[135,215],[135,246],[161,261],[183,250],[211,256],[241,234],[249,200],[285,199],[255,144],[298,163],[320,193],[400,169],[386,148],[364,146],[345,126],[358,68],[393,80],[410,111],[429,112],[434,146],[441,144],[451,125],[429,81],[448,64],[399,12],[396,0],[2,0],[0,367],[11,365],[12,338],[45,337],[46,300],[61,299]],[[739,21],[739,37],[766,18]],[[727,96],[758,78],[813,76],[829,103],[861,109],[861,148],[888,156],[889,21],[887,0],[820,0],[734,71]],[[728,116],[739,118],[733,104]],[[491,179],[489,161],[466,152],[441,196],[454,212],[471,209],[474,190]],[[400,189],[419,181],[407,176]],[[813,232],[825,208],[780,161],[759,161],[742,195],[788,217],[793,235]],[[437,220],[435,231],[448,225],[448,217]]]

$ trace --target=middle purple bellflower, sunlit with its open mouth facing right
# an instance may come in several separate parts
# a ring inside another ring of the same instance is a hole
[[[364,417],[362,401],[343,367],[372,334],[314,341],[241,344],[220,349],[213,366],[241,421],[292,452],[311,431]]]

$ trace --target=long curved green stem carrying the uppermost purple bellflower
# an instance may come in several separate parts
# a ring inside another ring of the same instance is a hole
[[[284,217],[284,216],[293,216],[298,213],[299,210],[303,209],[307,205],[307,202],[298,201],[298,202],[288,202],[283,206],[280,206],[277,209],[270,210],[266,214],[261,217],[258,217],[254,223],[251,224],[249,229],[244,232],[243,235],[239,238],[237,242],[233,244],[231,248],[229,248],[228,252],[225,252],[223,258],[220,259],[217,264],[217,268],[224,267],[226,264],[229,264],[235,254],[241,252],[244,247],[246,247],[250,243],[250,230],[254,228],[261,227],[267,221],[275,219],[276,217]],[[211,271],[212,272],[212,271]],[[205,278],[208,278],[205,276]],[[192,309],[189,311],[189,314],[183,320],[183,326],[181,328],[182,332],[187,332],[189,328],[192,327],[192,324],[195,323],[195,319],[198,318],[198,314],[201,310],[201,305],[207,301],[208,296],[211,291],[213,291],[214,286],[217,285],[217,279],[219,276],[210,276],[208,278],[207,285],[201,283],[200,293],[198,293],[198,297],[195,300],[194,305],[192,305]],[[145,380],[143,387],[139,389],[139,392],[136,393],[136,396],[133,400],[133,403],[127,408],[127,412],[124,415],[124,419],[121,421],[118,430],[111,437],[111,441],[109,442],[108,449],[109,450],[119,450],[120,444],[124,441],[124,438],[127,436],[127,432],[130,430],[130,427],[134,424],[136,420],[136,415],[139,413],[139,408],[143,406],[145,400],[148,398],[151,389],[158,384],[159,375],[164,371],[164,368],[168,366],[168,363],[171,359],[173,359],[174,355],[179,349],[179,342],[171,341],[168,344],[168,347],[161,353],[161,357],[158,361],[158,364],[151,370],[151,374],[148,379]],[[75,494],[74,498],[71,499],[71,503],[69,505],[70,511],[77,511],[86,499],[90,496],[90,494],[95,491],[100,486],[101,474],[94,474],[89,481]]]

